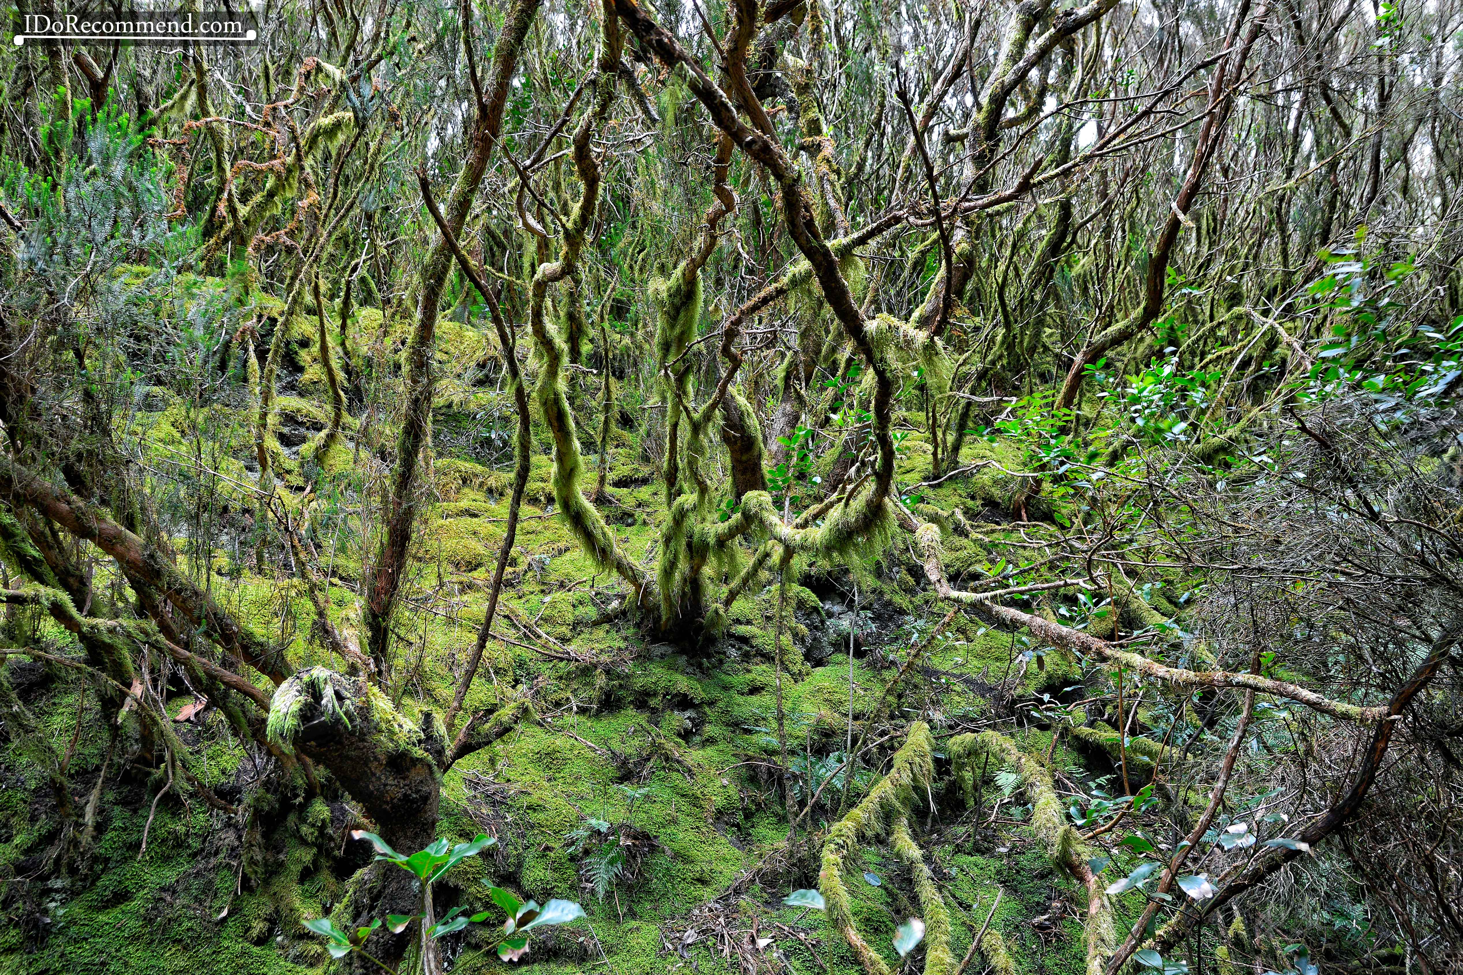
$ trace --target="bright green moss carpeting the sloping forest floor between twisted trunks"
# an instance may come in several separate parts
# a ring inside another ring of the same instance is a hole
[[[376,320],[363,317],[353,342],[376,327]],[[464,330],[470,333],[477,335]],[[344,453],[322,460],[287,443],[317,434],[328,420],[319,405],[326,393],[313,341],[313,319],[301,317],[288,344],[294,392],[279,401],[279,430],[271,430],[271,444],[278,471],[294,488],[294,517],[320,566],[332,573],[325,595],[335,623],[354,629],[360,561],[353,553],[360,539],[350,536],[350,520],[339,516],[345,484],[339,478],[353,477],[351,463]],[[449,373],[459,376],[464,363],[490,352],[474,342],[443,342],[448,354],[462,360]],[[459,409],[500,409],[503,396],[451,386],[443,392],[440,422],[448,427]],[[158,456],[187,453],[206,430],[218,475],[211,490],[222,498],[219,509],[240,510],[246,500],[240,484],[256,469],[247,411],[196,411],[173,393],[148,390],[129,422]],[[294,434],[281,439],[281,430]],[[354,450],[354,433],[347,430],[335,450]],[[648,561],[664,515],[661,487],[647,477],[652,465],[631,431],[617,427],[613,440],[613,500],[603,510],[622,548]],[[770,766],[780,753],[778,693],[802,804],[846,757],[850,718],[862,726],[914,648],[922,648],[920,664],[888,697],[884,713],[895,722],[901,716],[929,721],[938,741],[961,722],[989,716],[996,697],[1009,705],[1037,691],[1071,690],[1081,680],[1075,662],[1055,650],[1037,662],[1024,637],[990,631],[969,615],[957,614],[930,639],[945,607],[916,582],[919,566],[901,544],[872,564],[797,566],[781,621],[775,580],[767,577],[730,607],[717,643],[691,649],[657,643],[633,618],[613,612],[620,586],[595,570],[553,515],[547,444],[535,450],[505,582],[508,620],[500,617],[497,629],[522,637],[522,627],[535,627],[598,664],[553,661],[489,640],[467,707],[493,707],[516,688],[534,686],[543,719],[524,724],[446,776],[440,833],[465,839],[489,832],[499,839],[493,851],[456,868],[448,899],[486,906],[478,881],[489,880],[540,902],[581,900],[588,924],[541,938],[519,965],[533,972],[743,972],[752,971],[743,966],[749,957],[772,966],[759,971],[859,971],[819,912],[781,905],[793,887],[816,883],[819,838],[838,810],[841,781],[825,788],[789,843]],[[928,450],[920,436],[907,439],[901,481],[923,477]],[[597,446],[585,443],[585,455],[587,477],[594,477]],[[967,444],[964,460],[1011,466],[1020,458],[976,440]],[[423,709],[442,713],[451,702],[487,598],[509,479],[509,471],[484,466],[467,450],[443,452],[433,462],[433,498],[414,539],[407,599],[395,620],[399,678],[388,688],[411,719]],[[961,526],[977,523],[986,536],[1014,531],[1004,526],[1001,509],[1014,482],[989,468],[923,490],[911,501],[945,520],[948,569],[957,582],[998,572],[980,534]],[[951,515],[957,510],[958,517]],[[200,579],[206,574],[208,586],[233,612],[287,645],[297,667],[342,667],[315,637],[303,583],[288,566],[260,564],[249,528],[238,528],[234,517],[236,541],[219,545],[211,564],[190,563],[190,570]],[[1049,611],[1040,602],[1028,605]],[[857,639],[850,653],[854,611]],[[50,631],[45,621],[32,626],[53,639],[64,636]],[[22,680],[19,658],[10,661],[7,674],[45,734],[66,743],[78,707],[97,707],[95,696],[83,705],[79,686],[64,674]],[[266,693],[272,690],[256,680]],[[180,684],[170,686],[168,694],[174,713],[190,700]],[[363,862],[351,849],[360,843],[345,841],[347,829],[360,823],[344,803],[312,801],[298,781],[279,788],[288,779],[260,775],[259,765],[269,757],[243,747],[218,712],[206,712],[200,726],[180,728],[200,748],[205,782],[238,803],[240,813],[211,811],[174,789],[157,804],[146,851],[139,852],[164,773],[117,760],[133,746],[135,722],[121,725],[114,746],[107,732],[88,731],[78,738],[69,769],[82,803],[108,748],[117,756],[101,786],[98,839],[85,873],[45,884],[28,881],[44,873],[47,843],[56,833],[44,781],[25,756],[13,748],[3,753],[0,871],[12,890],[0,925],[0,972],[282,975],[335,965],[301,921],[329,914],[341,902],[350,873]],[[1042,731],[1027,738],[1026,747],[1042,753],[1050,744]],[[870,753],[872,766],[856,775],[854,798],[882,773],[879,763],[898,744],[890,741]],[[1083,776],[1093,751],[1102,748],[1069,751],[1064,743],[1053,763]],[[830,753],[838,762],[822,759]],[[1021,794],[1005,797],[993,832],[976,841],[963,797],[945,784],[942,756],[936,779],[939,788],[916,804],[913,824],[951,911],[955,957],[964,956],[1004,890],[990,925],[1004,937],[1017,971],[1081,971],[1077,917],[1083,895],[1046,860],[1023,820],[1028,810],[1023,811]],[[272,785],[263,788],[265,782]],[[995,797],[995,786],[989,788]],[[928,808],[930,800],[938,816]],[[988,800],[986,816],[990,808]],[[593,833],[595,822],[619,830],[629,843],[623,873],[600,892],[588,880],[600,845],[575,839],[587,829]],[[860,861],[847,880],[853,915],[894,963],[892,931],[916,912],[910,877],[884,846],[862,849]],[[758,938],[770,941],[758,947]],[[451,946],[454,972],[503,968],[481,950],[477,936],[454,936]]]

